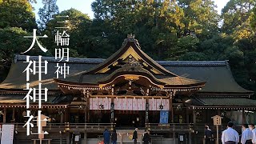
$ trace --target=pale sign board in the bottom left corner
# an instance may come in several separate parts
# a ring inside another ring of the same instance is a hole
[[[1,143],[13,144],[14,142],[14,125],[2,125]]]

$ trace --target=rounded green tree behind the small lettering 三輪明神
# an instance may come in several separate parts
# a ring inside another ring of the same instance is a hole
[[[58,16],[66,16],[68,18],[58,17]],[[67,22],[62,22],[67,21]],[[61,22],[61,23],[59,23]],[[46,24],[46,29],[42,31],[42,34],[46,34],[48,38],[42,39],[42,43],[45,44],[47,50],[50,51],[51,54],[54,54],[54,50],[56,48],[55,43],[55,35],[57,32],[62,33],[63,30],[66,30],[66,34],[70,35],[70,57],[78,57],[79,55],[82,57],[83,53],[86,53],[86,39],[88,33],[88,29],[90,28],[90,18],[87,14],[82,14],[81,11],[70,9],[64,10],[59,14],[56,14],[54,19],[51,19]],[[68,27],[67,29],[59,30],[55,27]],[[57,31],[58,30],[58,31]]]

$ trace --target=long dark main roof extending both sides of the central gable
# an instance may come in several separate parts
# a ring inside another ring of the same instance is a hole
[[[30,59],[37,60],[38,56],[30,56]],[[54,82],[53,78],[56,78],[55,67],[56,61],[54,57],[42,57],[43,60],[47,60],[48,74],[42,74],[42,87],[45,86],[49,90],[58,90],[58,85]],[[78,82],[81,74],[86,70],[92,69],[94,66],[102,63],[105,59],[101,58],[70,58],[70,62],[67,65],[70,66],[70,74],[66,80],[70,82]],[[10,68],[9,74],[6,79],[0,84],[0,89],[6,91],[23,90],[26,89],[26,74],[22,73],[26,69],[26,55],[16,55],[14,62]],[[237,94],[237,95],[250,95],[253,91],[245,90],[235,82],[228,62],[226,61],[156,61],[159,65],[171,70],[175,74],[182,76],[182,78],[198,79],[202,82],[206,82],[206,86],[202,87],[202,90],[198,92],[204,94],[212,94],[212,96],[218,93],[225,94]],[[93,83],[106,77],[106,74],[87,74],[86,78],[88,82]],[[160,76],[156,76],[157,78]],[[95,81],[96,80],[96,81]],[[30,84],[33,86],[38,85],[38,77],[30,76]],[[96,83],[95,83],[96,84]],[[223,94],[223,95],[225,95]]]

